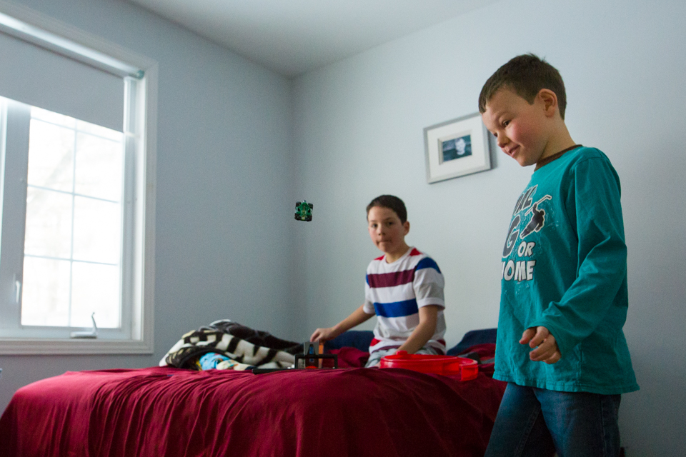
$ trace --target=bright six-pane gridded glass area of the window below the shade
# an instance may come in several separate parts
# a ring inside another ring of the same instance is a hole
[[[120,132],[31,108],[21,325],[119,327]]]

